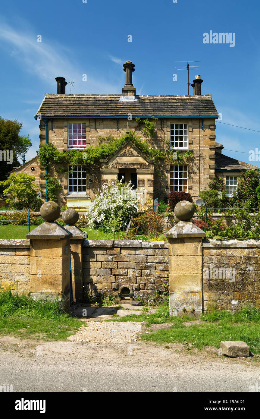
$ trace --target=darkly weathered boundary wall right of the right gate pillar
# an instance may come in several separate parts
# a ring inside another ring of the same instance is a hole
[[[260,305],[260,241],[204,241],[203,300],[204,310]]]

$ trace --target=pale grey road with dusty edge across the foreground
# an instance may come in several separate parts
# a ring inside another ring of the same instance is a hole
[[[29,345],[29,346],[28,346]],[[13,391],[249,392],[260,362],[229,359],[183,345],[75,344],[0,338],[0,385]]]

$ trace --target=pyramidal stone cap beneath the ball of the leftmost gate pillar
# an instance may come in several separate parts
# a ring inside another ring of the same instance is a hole
[[[57,240],[72,238],[72,233],[54,221],[45,221],[30,233],[26,234],[29,239]]]

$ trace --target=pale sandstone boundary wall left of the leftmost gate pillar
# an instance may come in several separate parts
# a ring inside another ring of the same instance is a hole
[[[30,241],[0,240],[0,288],[30,291]]]

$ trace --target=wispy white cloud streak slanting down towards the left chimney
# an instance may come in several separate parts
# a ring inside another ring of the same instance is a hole
[[[0,22],[0,48],[19,62],[21,68],[31,74],[36,74],[40,79],[47,80],[55,85],[55,77],[64,76],[74,79],[75,93],[117,93],[120,86],[118,83],[108,83],[99,77],[97,80],[90,74],[81,62],[71,60],[72,52],[64,48],[62,44],[51,43],[42,36],[42,41],[37,41],[33,33],[25,32],[24,28],[17,29]],[[119,64],[120,60],[113,57]],[[83,74],[87,74],[87,82],[82,80]],[[67,87],[68,89],[68,87]],[[74,93],[72,88],[71,93]]]

